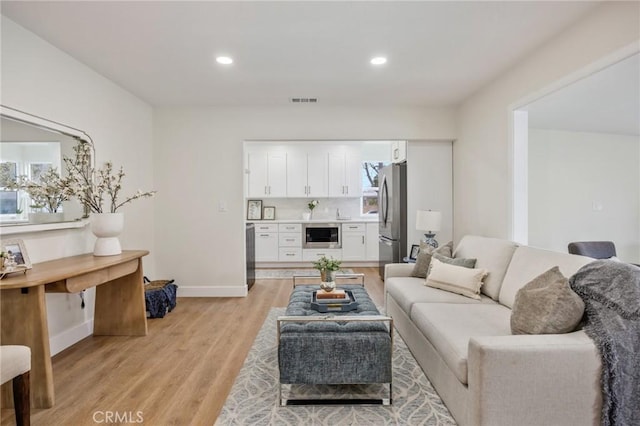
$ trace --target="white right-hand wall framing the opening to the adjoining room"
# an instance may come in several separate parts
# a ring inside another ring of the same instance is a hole
[[[510,238],[511,106],[640,40],[640,4],[606,2],[467,99],[454,142],[454,233]]]

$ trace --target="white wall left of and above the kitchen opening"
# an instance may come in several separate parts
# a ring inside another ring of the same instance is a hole
[[[157,109],[157,273],[176,279],[181,296],[245,294],[244,140],[453,138],[450,109]]]

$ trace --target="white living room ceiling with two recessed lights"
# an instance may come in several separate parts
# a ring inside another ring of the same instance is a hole
[[[2,14],[153,106],[455,105],[596,6],[567,1],[27,2]],[[235,59],[228,67],[216,55]],[[369,64],[374,55],[389,62]]]

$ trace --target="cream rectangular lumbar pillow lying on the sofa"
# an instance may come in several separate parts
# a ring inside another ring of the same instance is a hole
[[[432,258],[425,285],[479,300],[482,280],[487,274],[486,269],[449,265]]]

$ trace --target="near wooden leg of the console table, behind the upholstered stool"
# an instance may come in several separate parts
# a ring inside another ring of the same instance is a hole
[[[31,348],[31,404],[35,408],[53,406],[53,370],[49,349],[49,329],[44,286],[2,290],[0,297],[3,345]],[[2,386],[2,406],[13,407],[11,381]]]

